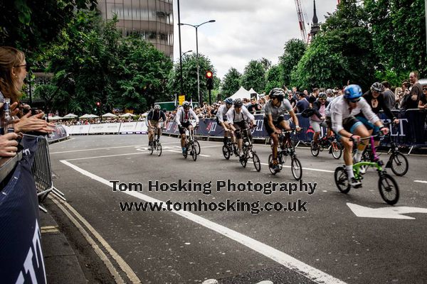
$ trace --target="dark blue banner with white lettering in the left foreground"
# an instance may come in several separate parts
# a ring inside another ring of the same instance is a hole
[[[46,283],[38,226],[38,199],[31,175],[37,137],[24,136],[23,158],[0,194],[0,282]]]

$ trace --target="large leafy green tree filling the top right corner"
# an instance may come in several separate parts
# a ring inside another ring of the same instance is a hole
[[[426,74],[424,4],[423,0],[364,0],[379,58],[376,72],[379,80],[398,85],[412,70]],[[408,31],[416,36],[408,36]]]

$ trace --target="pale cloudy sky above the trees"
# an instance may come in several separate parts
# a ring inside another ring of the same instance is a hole
[[[313,1],[301,0],[312,22]],[[317,18],[335,11],[337,0],[316,0]],[[231,67],[243,73],[251,60],[267,58],[273,65],[283,54],[286,41],[300,38],[295,0],[180,0],[181,23],[197,25],[199,54],[214,65],[216,76],[223,79]],[[174,0],[174,62],[179,62],[178,7]],[[306,22],[307,33],[310,26]],[[181,51],[196,53],[196,29],[181,26]]]

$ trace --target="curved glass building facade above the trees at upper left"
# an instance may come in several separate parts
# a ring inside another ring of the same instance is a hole
[[[98,0],[102,18],[117,14],[122,35],[137,33],[169,58],[174,58],[174,13],[172,0]]]

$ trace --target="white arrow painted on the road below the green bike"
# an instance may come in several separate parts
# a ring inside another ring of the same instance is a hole
[[[399,207],[371,208],[371,207],[364,207],[364,206],[360,206],[352,203],[347,203],[347,206],[352,210],[354,215],[356,215],[357,217],[365,217],[365,218],[414,220],[415,218],[408,217],[403,214],[427,213],[427,208],[421,208],[421,207],[399,206]]]

